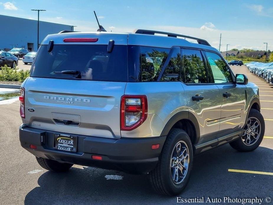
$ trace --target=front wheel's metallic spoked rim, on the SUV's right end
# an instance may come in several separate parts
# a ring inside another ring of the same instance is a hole
[[[244,133],[241,137],[243,144],[251,146],[256,143],[261,135],[261,123],[255,117],[247,119],[246,126],[244,127]]]

